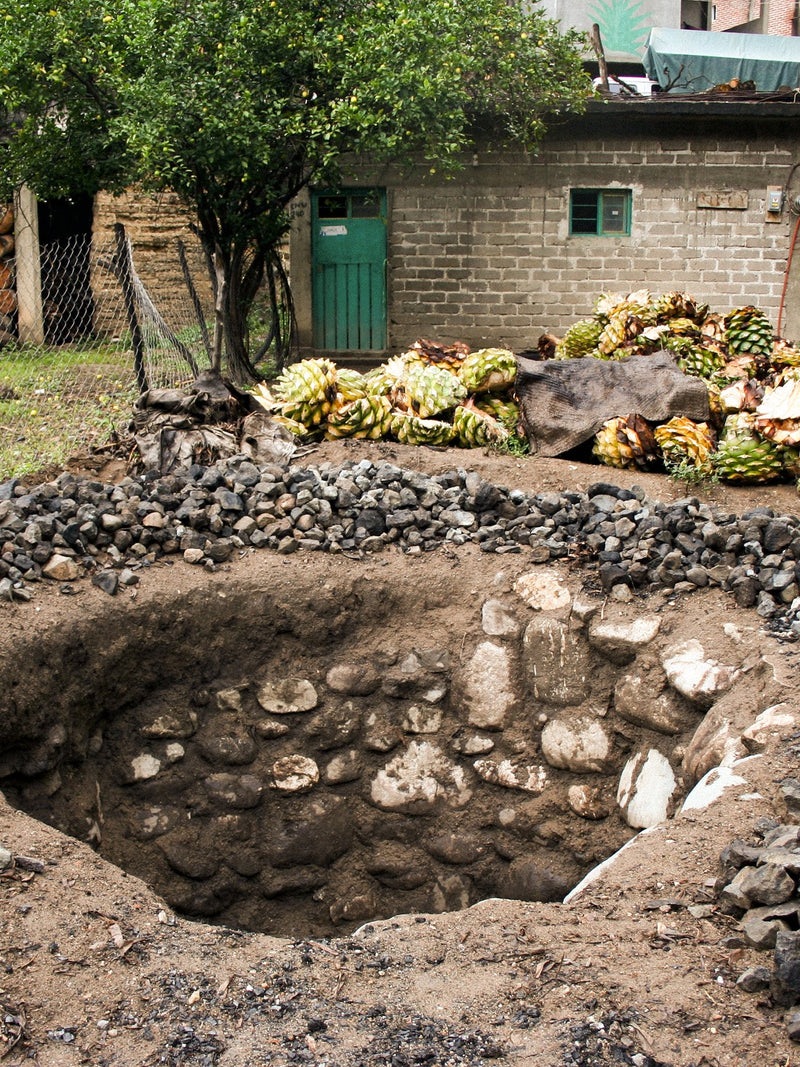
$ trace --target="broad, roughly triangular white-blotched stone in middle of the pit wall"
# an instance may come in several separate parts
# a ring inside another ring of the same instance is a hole
[[[471,795],[463,768],[428,740],[410,742],[378,771],[370,789],[377,807],[409,814],[430,811],[437,802],[463,808]]]

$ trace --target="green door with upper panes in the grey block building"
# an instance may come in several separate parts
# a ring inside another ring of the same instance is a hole
[[[314,347],[386,348],[386,193],[315,193],[311,198]]]

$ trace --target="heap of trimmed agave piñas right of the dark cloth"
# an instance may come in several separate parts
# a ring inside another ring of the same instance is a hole
[[[674,352],[708,388],[710,423],[684,416],[654,426],[639,415],[609,419],[593,452],[615,467],[668,471],[730,482],[800,477],[800,350],[775,337],[757,307],[711,312],[683,292],[603,293],[594,316],[575,322],[555,357],[621,360]]]

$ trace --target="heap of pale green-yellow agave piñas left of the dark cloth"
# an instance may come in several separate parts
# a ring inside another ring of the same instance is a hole
[[[418,340],[366,375],[303,360],[256,399],[306,439],[391,437],[407,445],[502,447],[516,435],[516,357],[501,348]]]

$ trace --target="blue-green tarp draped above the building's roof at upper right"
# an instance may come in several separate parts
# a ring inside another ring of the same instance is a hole
[[[703,93],[732,78],[773,93],[800,85],[800,38],[653,29],[642,63],[653,81],[673,83],[676,93]]]

